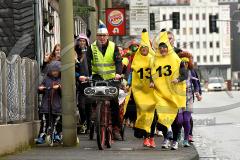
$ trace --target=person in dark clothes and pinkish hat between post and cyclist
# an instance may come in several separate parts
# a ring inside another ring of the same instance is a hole
[[[89,83],[85,82],[89,78],[87,51],[90,48],[89,39],[85,34],[81,33],[76,37],[74,49],[76,52],[75,77],[78,99],[77,106],[80,114],[80,130],[78,130],[78,133],[87,133],[90,127],[91,103],[86,103],[84,89],[89,86]]]

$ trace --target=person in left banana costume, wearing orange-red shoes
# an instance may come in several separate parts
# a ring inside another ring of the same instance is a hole
[[[143,146],[155,148],[155,101],[153,88],[150,88],[151,58],[154,51],[150,44],[146,29],[142,31],[141,42],[132,61],[130,79],[133,99],[136,103],[137,119],[135,122],[134,136],[144,138]]]

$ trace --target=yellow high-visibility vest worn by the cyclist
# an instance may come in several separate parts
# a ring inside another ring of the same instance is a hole
[[[98,49],[97,42],[91,45],[93,60],[92,60],[92,75],[98,74],[104,80],[115,78],[116,66],[114,62],[115,43],[109,41],[105,55]]]

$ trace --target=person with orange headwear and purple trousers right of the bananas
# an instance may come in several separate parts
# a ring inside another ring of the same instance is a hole
[[[184,141],[183,146],[189,147],[189,134],[191,131],[191,118],[192,118],[192,108],[194,97],[196,96],[197,100],[200,101],[202,99],[200,92],[201,86],[199,83],[199,79],[196,77],[196,73],[193,68],[193,59],[192,55],[188,52],[180,52],[179,57],[184,63],[185,68],[188,70],[188,78],[186,80],[186,105],[184,108],[179,109],[179,113],[176,118],[175,126],[173,127],[173,146],[172,149],[178,149],[178,137],[180,130],[183,126],[184,128]]]

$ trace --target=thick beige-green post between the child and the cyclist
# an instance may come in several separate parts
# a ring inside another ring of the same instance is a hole
[[[73,1],[60,0],[61,82],[63,145],[77,144]]]

